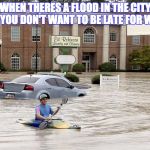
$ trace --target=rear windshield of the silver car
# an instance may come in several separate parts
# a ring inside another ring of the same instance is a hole
[[[35,83],[39,78],[37,77],[19,77],[16,78],[14,80],[12,80],[12,82],[16,82],[16,83]]]

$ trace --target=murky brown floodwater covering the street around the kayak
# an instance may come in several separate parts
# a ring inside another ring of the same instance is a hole
[[[81,76],[90,84],[91,75]],[[2,78],[2,77],[1,77]],[[50,100],[55,109],[60,100]],[[120,73],[120,87],[91,85],[58,117],[81,130],[39,130],[16,123],[34,117],[38,100],[0,100],[0,150],[150,150],[150,73]]]

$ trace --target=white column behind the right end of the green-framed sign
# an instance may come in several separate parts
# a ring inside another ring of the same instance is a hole
[[[72,36],[78,36],[78,24],[72,25]],[[74,64],[78,63],[78,48],[72,48],[72,55],[76,58]]]

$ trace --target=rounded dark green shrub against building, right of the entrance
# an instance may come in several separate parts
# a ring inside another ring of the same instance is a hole
[[[105,62],[99,65],[99,70],[103,72],[112,72],[112,71],[116,71],[116,67],[110,62]]]

